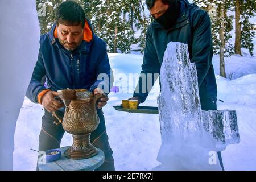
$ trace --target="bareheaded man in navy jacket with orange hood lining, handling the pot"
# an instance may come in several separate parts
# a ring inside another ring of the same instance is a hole
[[[102,84],[108,94],[112,86],[106,43],[93,34],[82,7],[74,1],[63,2],[56,9],[55,20],[52,30],[40,37],[38,61],[26,93],[32,102],[44,106],[39,151],[59,148],[64,135],[61,125],[53,125],[53,111],[60,119],[64,116],[64,105],[55,99],[57,90],[84,88],[99,94],[102,93],[99,84]],[[98,80],[102,74],[107,79]],[[41,83],[44,76],[46,84]],[[98,170],[114,170],[113,152],[102,113],[107,100],[102,98],[98,102],[100,124],[90,135],[92,144],[105,153],[105,162]]]

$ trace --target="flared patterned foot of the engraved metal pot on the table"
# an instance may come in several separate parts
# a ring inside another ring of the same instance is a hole
[[[90,133],[85,135],[72,135],[73,144],[65,152],[69,159],[87,159],[98,154],[98,148],[90,143]]]

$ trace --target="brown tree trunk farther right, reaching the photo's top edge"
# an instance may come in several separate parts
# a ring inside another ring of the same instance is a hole
[[[241,4],[240,0],[236,0],[236,40],[234,51],[238,55],[242,55],[241,52],[241,23],[240,23],[240,14],[241,14]]]

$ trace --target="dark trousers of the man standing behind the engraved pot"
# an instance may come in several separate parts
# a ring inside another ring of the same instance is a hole
[[[58,118],[63,120],[64,113],[60,111],[55,111]],[[94,130],[90,135],[91,143],[104,151],[105,161],[97,169],[97,171],[114,171],[114,159],[113,151],[109,146],[109,138],[106,133],[105,119],[102,110],[97,109],[98,117],[100,118],[100,123],[96,130]],[[59,126],[53,124],[57,119],[52,117],[52,113],[49,113],[46,109],[44,110],[44,115],[42,117],[42,129],[39,135],[39,151],[47,151],[53,148],[59,148],[61,139],[65,133],[62,125]]]

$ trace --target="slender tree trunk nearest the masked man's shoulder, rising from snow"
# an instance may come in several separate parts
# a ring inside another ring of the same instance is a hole
[[[220,28],[220,76],[226,78],[225,72],[225,60],[224,60],[224,48],[225,48],[225,38],[224,38],[224,14],[226,12],[221,11],[221,28]]]

